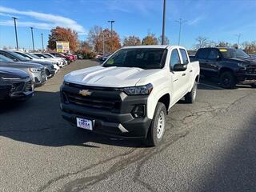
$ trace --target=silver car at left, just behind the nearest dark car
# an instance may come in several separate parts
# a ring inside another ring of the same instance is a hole
[[[0,66],[13,67],[25,71],[33,80],[34,86],[42,86],[47,80],[44,66],[32,62],[14,62],[0,54]]]

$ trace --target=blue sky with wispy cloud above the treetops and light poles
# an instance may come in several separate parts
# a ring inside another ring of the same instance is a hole
[[[46,46],[54,26],[77,30],[84,40],[92,26],[110,27],[112,19],[120,38],[162,34],[162,0],[0,0],[0,48],[15,47],[12,16],[18,18],[19,47],[27,49],[32,48],[29,26],[35,28],[35,48],[42,47],[41,33]],[[166,36],[172,45],[178,44],[178,18],[187,20],[181,44],[188,49],[199,35],[235,43],[241,33],[241,42],[256,40],[256,0],[166,0]]]

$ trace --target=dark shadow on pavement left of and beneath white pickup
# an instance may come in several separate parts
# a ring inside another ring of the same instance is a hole
[[[26,102],[4,102],[0,110],[0,136],[42,146],[87,146],[88,142],[139,147],[142,142],[108,138],[71,126],[62,119],[59,92],[37,91]]]

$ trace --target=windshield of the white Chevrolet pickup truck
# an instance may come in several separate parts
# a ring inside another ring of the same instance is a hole
[[[113,54],[103,66],[139,67],[144,70],[161,69],[166,62],[166,49],[123,49]]]

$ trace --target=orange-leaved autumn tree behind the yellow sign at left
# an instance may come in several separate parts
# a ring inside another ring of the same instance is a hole
[[[70,51],[78,50],[78,33],[70,28],[57,26],[50,30],[48,48],[56,50],[56,42],[70,42]]]

